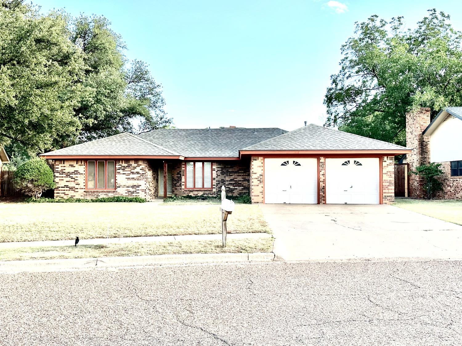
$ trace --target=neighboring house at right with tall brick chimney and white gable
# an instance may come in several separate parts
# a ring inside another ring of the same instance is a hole
[[[409,170],[430,163],[441,163],[443,191],[438,198],[462,198],[462,107],[447,107],[430,122],[430,109],[406,115],[406,143],[413,151],[406,155]],[[425,197],[421,177],[409,177],[411,197]]]

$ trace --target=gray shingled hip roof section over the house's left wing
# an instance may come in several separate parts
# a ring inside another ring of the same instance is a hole
[[[179,156],[170,149],[124,132],[118,135],[96,139],[91,142],[73,145],[64,149],[42,154],[49,155],[146,155],[146,156]]]

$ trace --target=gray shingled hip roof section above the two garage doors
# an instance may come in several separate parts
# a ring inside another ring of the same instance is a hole
[[[403,150],[400,145],[310,124],[243,150]]]

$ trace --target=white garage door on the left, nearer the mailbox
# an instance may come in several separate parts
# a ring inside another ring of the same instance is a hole
[[[265,159],[265,203],[316,204],[317,159]]]

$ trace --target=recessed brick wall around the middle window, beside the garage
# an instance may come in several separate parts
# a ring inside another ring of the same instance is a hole
[[[225,185],[227,195],[248,195],[249,176],[249,161],[216,161],[212,162],[212,189],[186,189],[185,163],[178,161],[172,165],[172,190],[176,196],[219,196]]]

